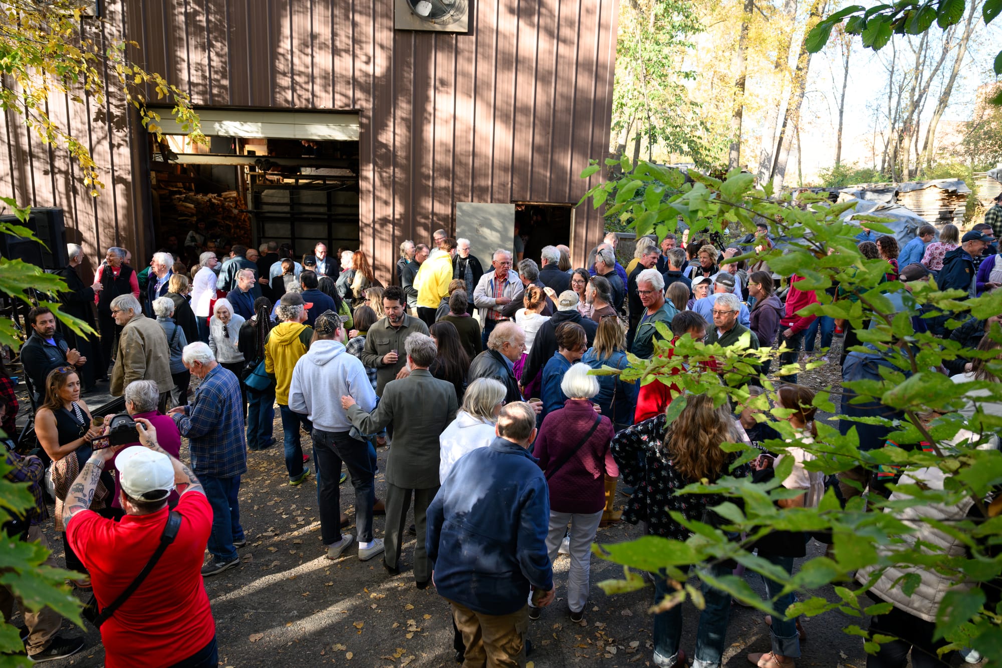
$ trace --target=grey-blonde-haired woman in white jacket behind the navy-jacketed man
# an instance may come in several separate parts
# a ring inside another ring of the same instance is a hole
[[[507,389],[493,378],[477,378],[466,388],[463,405],[439,436],[439,482],[444,482],[459,458],[494,440],[494,425]]]

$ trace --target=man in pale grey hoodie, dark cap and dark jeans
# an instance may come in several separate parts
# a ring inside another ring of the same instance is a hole
[[[320,529],[327,558],[338,559],[351,545],[351,534],[341,533],[342,462],[355,487],[355,526],[359,534],[359,559],[368,561],[383,553],[383,541],[373,538],[375,474],[369,445],[351,434],[352,421],[341,406],[342,395],[351,396],[365,410],[376,407],[376,392],[358,357],[345,350],[345,324],[341,316],[326,311],[314,323],[317,338],[309,352],[296,362],[289,387],[289,408],[309,415],[313,422],[314,461],[317,464],[317,502]]]

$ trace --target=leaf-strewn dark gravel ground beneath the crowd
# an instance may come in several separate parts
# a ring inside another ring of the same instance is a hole
[[[835,346],[841,346],[841,339],[836,338]],[[805,372],[801,382],[816,389],[837,385],[839,351],[832,353],[835,363]],[[281,433],[277,422],[276,434],[281,437]],[[304,445],[309,443],[309,438],[304,437]],[[386,450],[380,450],[381,462],[386,454]],[[418,591],[413,574],[407,570],[412,563],[414,539],[405,546],[404,573],[397,577],[388,576],[379,559],[359,562],[355,547],[339,561],[328,561],[320,539],[313,477],[298,487],[287,482],[279,446],[248,453],[248,471],[240,490],[240,515],[248,545],[240,550],[239,568],[205,579],[216,623],[219,665],[456,665],[448,605],[432,589]],[[385,488],[380,475],[380,497]],[[354,498],[349,483],[342,485],[342,498],[346,496],[348,502]],[[621,505],[625,497],[619,495],[617,500]],[[350,507],[345,510],[353,512]],[[377,536],[383,536],[383,518],[377,518]],[[622,523],[599,530],[597,542],[619,543],[640,535],[639,528]],[[50,530],[50,539],[56,538]],[[59,543],[53,540],[53,545]],[[815,542],[809,546],[812,556],[823,550]],[[574,624],[562,598],[568,565],[566,556],[557,560],[554,571],[558,598],[543,611],[539,621],[530,625],[535,649],[529,665],[652,665],[651,620],[646,612],[652,590],[606,596],[595,583],[621,577],[622,570],[594,558],[584,622]],[[747,580],[764,593],[757,576],[747,576]],[[817,594],[838,600],[830,587]],[[691,657],[697,611],[686,604],[684,618],[682,648]],[[844,635],[841,629],[850,623],[865,622],[838,612],[806,620],[808,640],[799,664],[862,668],[866,664],[862,642]],[[67,629],[64,633],[83,632]],[[85,633],[88,649],[52,665],[102,665],[103,650],[97,632],[88,626]],[[732,606],[726,642],[726,666],[747,666],[745,654],[769,651],[769,629],[762,615]]]

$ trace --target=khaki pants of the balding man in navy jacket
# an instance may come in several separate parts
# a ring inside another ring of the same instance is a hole
[[[463,668],[518,668],[525,661],[525,631],[529,607],[510,615],[485,615],[455,601],[452,617],[463,634],[466,655]]]

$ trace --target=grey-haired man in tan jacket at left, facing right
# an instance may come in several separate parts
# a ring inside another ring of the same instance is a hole
[[[111,300],[111,317],[122,328],[118,356],[111,369],[111,395],[121,396],[133,380],[152,380],[160,393],[157,408],[166,412],[174,381],[170,376],[170,346],[163,328],[142,315],[139,300],[132,295]]]

